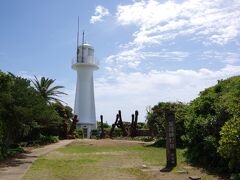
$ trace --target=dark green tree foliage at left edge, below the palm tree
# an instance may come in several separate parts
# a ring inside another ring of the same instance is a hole
[[[9,145],[36,140],[60,123],[58,113],[31,87],[31,81],[0,71],[1,154]]]

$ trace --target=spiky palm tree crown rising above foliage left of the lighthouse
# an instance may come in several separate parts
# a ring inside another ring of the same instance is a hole
[[[55,102],[63,102],[62,100],[58,99],[59,95],[65,94],[64,92],[59,91],[59,89],[64,88],[64,86],[53,86],[50,87],[55,80],[48,79],[42,77],[40,80],[34,76],[35,79],[32,80],[32,83],[36,89],[36,91],[46,100],[47,103],[51,103],[52,101]]]

